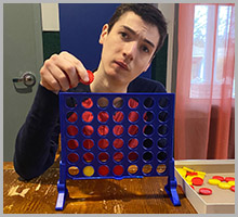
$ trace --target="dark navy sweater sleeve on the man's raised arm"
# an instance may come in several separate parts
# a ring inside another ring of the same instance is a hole
[[[15,141],[14,167],[22,178],[40,176],[54,163],[58,135],[58,97],[39,85]]]

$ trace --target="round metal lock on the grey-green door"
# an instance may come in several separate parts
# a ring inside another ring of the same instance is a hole
[[[32,91],[32,87],[36,84],[36,76],[31,72],[26,72],[19,78],[13,78],[12,81],[17,92],[27,93]],[[17,87],[16,84],[18,84]]]

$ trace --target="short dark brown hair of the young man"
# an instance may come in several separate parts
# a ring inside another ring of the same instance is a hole
[[[108,23],[108,33],[110,33],[115,23],[123,15],[125,12],[134,12],[136,15],[141,16],[143,21],[148,24],[155,25],[158,28],[160,38],[156,49],[156,52],[162,47],[164,39],[167,37],[167,22],[161,13],[161,11],[149,3],[122,3],[115,11],[114,15]],[[155,53],[156,53],[155,52]]]

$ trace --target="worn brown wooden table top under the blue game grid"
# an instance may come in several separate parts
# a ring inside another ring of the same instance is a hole
[[[67,180],[69,197],[55,210],[58,163],[42,176],[21,180],[12,163],[3,163],[4,214],[194,214],[181,187],[181,206],[173,206],[164,191],[167,177],[142,179]]]

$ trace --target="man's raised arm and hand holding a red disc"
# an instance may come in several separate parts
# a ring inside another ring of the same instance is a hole
[[[58,91],[89,81],[82,63],[68,52],[53,54],[47,60],[40,76],[34,104],[15,143],[14,166],[24,179],[43,174],[54,162],[60,133]]]

